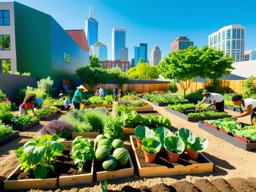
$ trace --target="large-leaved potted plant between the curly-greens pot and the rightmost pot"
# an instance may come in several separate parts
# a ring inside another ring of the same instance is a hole
[[[182,154],[185,149],[185,144],[181,137],[169,136],[164,139],[164,147],[167,150],[169,161],[171,163],[177,163],[179,154]]]

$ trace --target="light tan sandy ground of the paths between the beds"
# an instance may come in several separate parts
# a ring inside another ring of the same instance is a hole
[[[203,154],[209,158],[214,163],[214,170],[212,173],[205,173],[199,175],[180,175],[171,177],[149,177],[143,178],[138,177],[137,165],[134,163],[134,176],[128,178],[120,178],[115,180],[109,180],[109,189],[121,190],[123,186],[130,185],[134,188],[140,186],[153,186],[160,183],[165,183],[166,185],[172,185],[178,180],[186,180],[195,184],[197,179],[207,179],[212,181],[217,178],[223,178],[225,180],[234,177],[248,178],[256,177],[256,150],[254,151],[244,151],[230,143],[227,143],[218,137],[215,137],[204,130],[198,128],[198,123],[188,122],[177,116],[170,114],[164,110],[164,107],[157,107],[155,105],[154,110],[158,111],[162,115],[168,117],[172,123],[173,127],[180,129],[186,127],[193,131],[196,136],[204,136],[209,140],[209,146],[203,152]],[[114,110],[113,110],[114,111]],[[238,114],[237,112],[228,111],[231,115]],[[61,114],[58,114],[55,119]],[[250,116],[240,118],[239,122],[250,123]],[[20,137],[16,138],[14,141],[8,143],[5,146],[0,147],[0,179],[3,181],[18,165],[18,159],[14,154],[14,151],[27,142],[30,138],[40,136],[40,129],[42,126],[49,122],[40,121],[40,125],[37,125],[26,132],[20,132]],[[129,137],[126,137],[125,144],[130,145]],[[134,162],[134,161],[133,161]],[[19,191],[29,191],[29,190],[19,190]],[[48,190],[31,190],[32,191],[49,191]],[[101,185],[94,182],[93,184],[87,185],[77,185],[72,187],[62,187],[59,189],[53,189],[53,191],[71,191],[71,192],[86,192],[86,191],[101,191]]]

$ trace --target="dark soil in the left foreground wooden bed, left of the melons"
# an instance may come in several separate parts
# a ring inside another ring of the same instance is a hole
[[[70,151],[72,149],[72,142],[62,142],[64,146],[64,151],[62,156],[57,156],[56,161],[52,163],[54,166],[55,172],[51,170],[48,171],[45,179],[48,178],[58,178],[59,176],[68,176],[68,175],[82,175],[91,173],[92,161],[86,161],[84,164],[84,171],[80,172],[77,168],[77,165],[74,165],[73,160],[70,158]],[[19,180],[19,179],[35,179],[33,174],[33,169],[30,173],[24,173],[21,170],[17,170],[9,180]]]

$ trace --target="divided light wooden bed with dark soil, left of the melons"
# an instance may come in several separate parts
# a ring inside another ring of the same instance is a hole
[[[62,156],[57,156],[52,163],[55,172],[49,170],[46,178],[35,179],[33,172],[24,173],[20,171],[20,164],[4,181],[5,189],[38,189],[56,188],[67,185],[92,183],[93,161],[87,160],[84,164],[84,172],[81,173],[77,165],[70,158],[72,142],[62,142],[64,151]]]

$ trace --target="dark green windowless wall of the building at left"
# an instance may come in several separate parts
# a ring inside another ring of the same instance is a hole
[[[17,71],[52,76],[51,16],[14,2]]]

